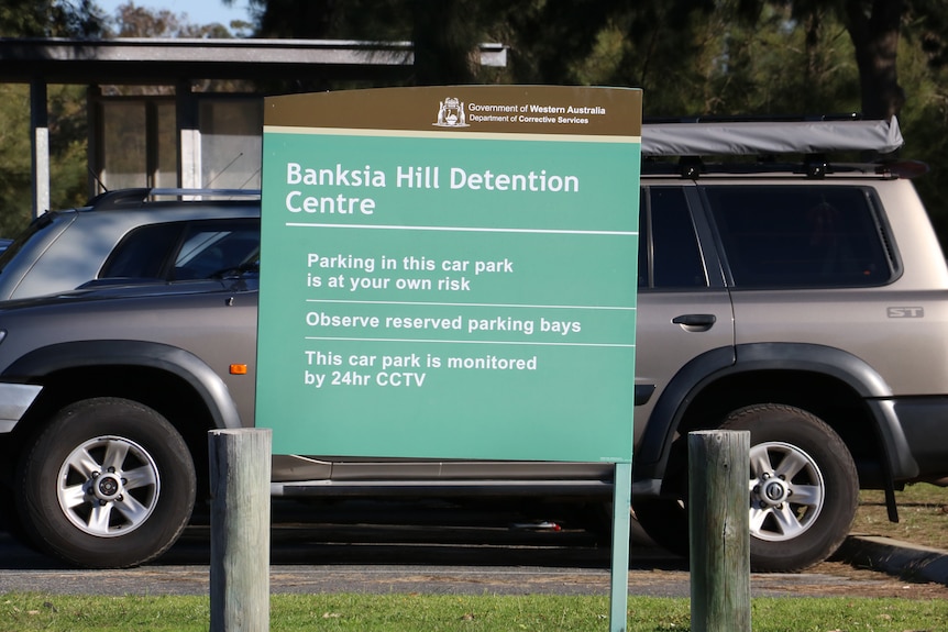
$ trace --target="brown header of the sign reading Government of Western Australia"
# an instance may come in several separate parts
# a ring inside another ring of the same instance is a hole
[[[635,88],[434,86],[268,97],[264,125],[406,132],[641,136]]]

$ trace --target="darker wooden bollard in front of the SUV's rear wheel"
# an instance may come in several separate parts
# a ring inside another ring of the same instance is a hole
[[[688,433],[693,632],[750,632],[750,432]]]

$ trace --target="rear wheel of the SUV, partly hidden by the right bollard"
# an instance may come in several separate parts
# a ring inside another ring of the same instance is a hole
[[[750,431],[751,567],[800,570],[835,553],[859,502],[856,465],[839,435],[780,404],[737,410],[721,429]]]

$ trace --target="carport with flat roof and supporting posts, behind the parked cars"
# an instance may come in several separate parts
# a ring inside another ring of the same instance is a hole
[[[271,85],[283,81],[290,87],[288,91],[300,86],[313,89],[313,86],[334,79],[385,84],[406,80],[414,63],[410,42],[0,37],[0,81],[31,86],[34,215],[49,208],[46,114],[46,86],[49,84],[175,86],[173,108],[177,152],[174,179],[177,181],[155,184],[192,188],[206,184],[201,181],[199,99],[192,92],[192,81],[244,79]],[[481,63],[505,66],[506,47],[482,44]],[[150,118],[146,112],[142,133],[154,135],[155,129],[150,125],[161,115],[158,112]],[[95,124],[90,125],[91,170],[98,166],[96,138],[91,136],[95,129]],[[89,188],[90,195],[97,192],[95,178],[90,177]]]

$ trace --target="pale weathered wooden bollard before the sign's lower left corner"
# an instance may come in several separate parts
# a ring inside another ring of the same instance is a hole
[[[269,429],[212,430],[211,632],[269,630]]]

